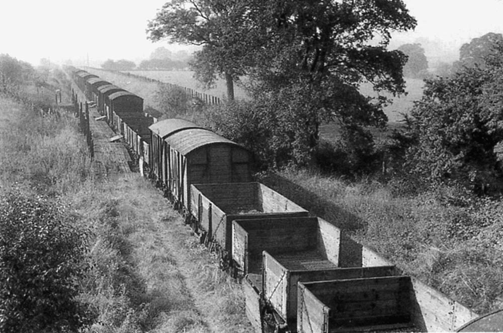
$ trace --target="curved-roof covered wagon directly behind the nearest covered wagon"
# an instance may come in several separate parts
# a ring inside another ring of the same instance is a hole
[[[168,184],[168,160],[169,160],[169,147],[164,139],[176,132],[191,129],[202,128],[191,121],[179,118],[164,119],[152,124],[149,127],[151,132],[151,154],[150,154],[150,168],[154,180],[164,185],[167,188]]]

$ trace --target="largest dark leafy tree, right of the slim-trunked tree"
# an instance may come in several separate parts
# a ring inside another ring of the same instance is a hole
[[[280,6],[281,5],[281,6]],[[278,2],[265,40],[255,52],[250,70],[255,96],[288,96],[307,91],[303,133],[311,152],[319,142],[319,125],[338,121],[342,126],[384,126],[385,97],[363,96],[360,82],[369,81],[377,92],[403,93],[405,56],[387,50],[391,30],[415,26],[401,1],[294,1]],[[375,45],[374,36],[381,36]],[[300,115],[299,115],[300,116]],[[351,137],[348,135],[348,137]]]

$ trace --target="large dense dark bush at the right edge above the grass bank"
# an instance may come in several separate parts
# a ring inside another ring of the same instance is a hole
[[[408,132],[413,172],[461,182],[478,192],[501,189],[503,144],[502,47],[484,66],[464,67],[451,77],[427,80]]]

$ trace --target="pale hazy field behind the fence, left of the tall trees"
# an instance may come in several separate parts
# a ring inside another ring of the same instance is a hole
[[[201,83],[192,77],[194,74],[190,70],[131,70],[132,74],[145,76],[161,82],[167,82],[173,85],[179,85],[194,89],[198,92],[213,95],[220,98],[227,96],[227,88],[223,79],[217,80],[216,87],[209,90],[204,90]],[[239,87],[234,86],[234,95],[236,98],[245,98],[246,94]]]

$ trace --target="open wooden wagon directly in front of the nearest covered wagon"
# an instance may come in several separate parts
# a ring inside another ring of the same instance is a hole
[[[194,184],[190,211],[198,228],[207,232],[228,254],[232,252],[232,221],[308,216],[293,201],[258,182]]]

